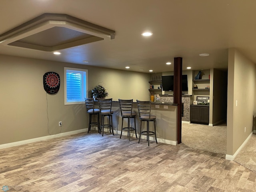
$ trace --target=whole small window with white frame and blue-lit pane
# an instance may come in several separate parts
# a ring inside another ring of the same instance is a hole
[[[65,105],[84,104],[87,93],[88,70],[64,68],[65,76]]]

